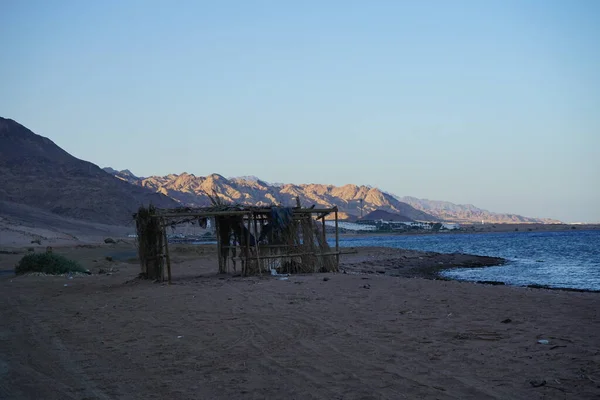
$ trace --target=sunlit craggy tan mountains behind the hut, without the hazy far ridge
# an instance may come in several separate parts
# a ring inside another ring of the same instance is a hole
[[[169,196],[182,205],[198,207],[209,205],[210,198],[207,194],[212,196],[214,192],[224,201],[252,205],[294,206],[296,197],[300,197],[301,203],[305,206],[313,204],[319,207],[338,206],[340,218],[344,219],[360,217],[361,206],[363,215],[381,209],[411,220],[436,221],[438,219],[398,201],[377,188],[368,186],[270,185],[255,177],[227,179],[219,174],[204,177],[185,172],[179,175],[138,178],[132,177],[128,171],[114,171],[112,168],[105,168],[105,171],[132,184]]]

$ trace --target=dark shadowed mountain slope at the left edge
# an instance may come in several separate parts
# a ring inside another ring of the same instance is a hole
[[[50,139],[1,117],[0,201],[111,224],[131,222],[140,204],[177,206],[172,199],[116,179]]]

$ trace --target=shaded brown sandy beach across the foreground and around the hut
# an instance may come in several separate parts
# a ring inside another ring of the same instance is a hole
[[[172,285],[123,243],[54,249],[91,276],[0,277],[0,398],[600,396],[597,293],[409,278],[447,256],[377,248],[345,274],[218,276],[212,250],[174,246]]]

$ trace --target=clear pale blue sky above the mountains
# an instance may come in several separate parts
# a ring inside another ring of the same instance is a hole
[[[4,0],[0,116],[142,176],[600,221],[600,1]]]

